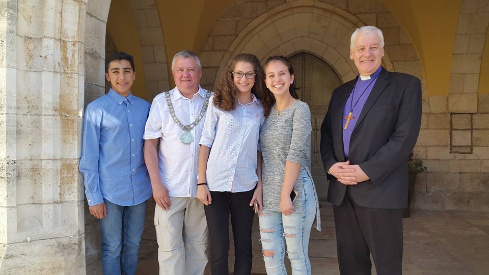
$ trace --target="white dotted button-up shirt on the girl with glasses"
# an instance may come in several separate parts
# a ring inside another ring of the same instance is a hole
[[[199,144],[209,148],[206,182],[211,191],[244,192],[255,188],[257,150],[263,124],[263,106],[255,95],[248,104],[237,103],[232,111],[209,107]]]

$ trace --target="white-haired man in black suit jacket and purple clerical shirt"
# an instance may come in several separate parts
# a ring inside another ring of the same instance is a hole
[[[340,273],[402,273],[402,209],[408,204],[408,155],[421,124],[421,84],[381,66],[382,31],[351,35],[359,76],[336,88],[321,125]]]

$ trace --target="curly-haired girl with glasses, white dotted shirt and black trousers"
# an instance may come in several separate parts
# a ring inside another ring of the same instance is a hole
[[[263,73],[258,58],[242,53],[224,70],[209,104],[200,139],[197,198],[204,203],[212,274],[228,274],[229,213],[234,274],[250,274],[254,211],[262,209],[261,151]]]

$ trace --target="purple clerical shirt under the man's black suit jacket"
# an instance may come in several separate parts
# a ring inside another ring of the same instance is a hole
[[[357,84],[355,85],[355,90],[350,93],[350,96],[348,97],[348,100],[346,100],[345,106],[343,107],[344,127],[346,123],[345,117],[348,116],[348,114],[350,113],[350,107],[354,106],[352,112],[352,116],[354,117],[354,119],[350,119],[346,130],[343,129],[343,148],[345,151],[345,157],[348,157],[351,133],[353,132],[353,129],[357,124],[360,113],[362,113],[363,106],[365,105],[365,102],[367,101],[370,92],[372,92],[375,81],[377,81],[377,76],[381,73],[381,71],[382,67],[378,67],[378,69],[372,75],[370,75],[370,79],[367,80],[362,80],[359,76],[357,79]]]

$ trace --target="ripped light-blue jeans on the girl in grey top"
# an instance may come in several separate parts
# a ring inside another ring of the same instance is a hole
[[[316,198],[312,180],[305,170],[301,170],[299,176],[304,178],[302,212],[285,216],[281,212],[263,210],[258,214],[263,259],[268,275],[287,274],[285,244],[292,274],[311,274],[308,248],[311,227],[316,216]]]

